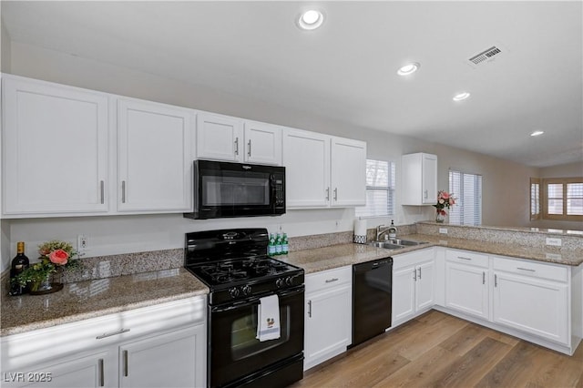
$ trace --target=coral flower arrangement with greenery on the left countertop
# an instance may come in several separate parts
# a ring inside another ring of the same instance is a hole
[[[31,295],[43,295],[63,289],[63,284],[56,279],[62,271],[71,270],[78,265],[73,257],[77,252],[73,246],[61,240],[50,240],[38,246],[40,257],[38,262],[32,263],[22,271],[14,281],[20,285],[30,286]]]

